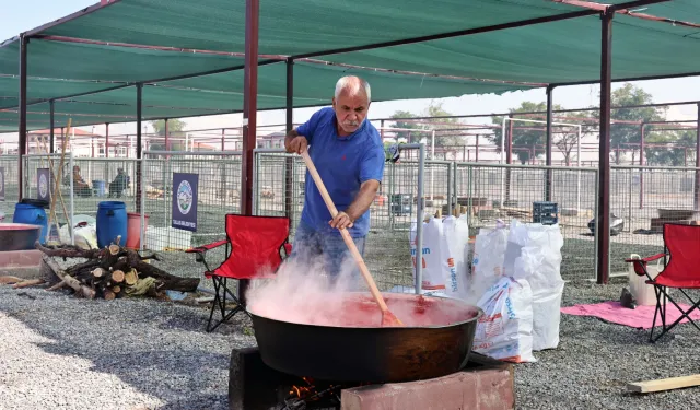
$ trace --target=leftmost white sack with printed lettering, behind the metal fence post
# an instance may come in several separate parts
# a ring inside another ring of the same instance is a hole
[[[442,221],[430,218],[428,222],[423,222],[423,249],[418,258],[417,253],[417,224],[411,224],[409,241],[411,244],[411,260],[413,262],[413,283],[416,283],[416,268],[420,260],[422,263],[422,289],[425,291],[435,291],[445,289],[445,280],[443,279],[443,269],[448,269],[447,261],[442,259]],[[443,267],[444,265],[444,267]]]

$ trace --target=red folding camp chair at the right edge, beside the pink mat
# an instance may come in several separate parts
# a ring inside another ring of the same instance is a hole
[[[700,226],[664,224],[664,253],[643,259],[626,259],[634,266],[638,276],[646,276],[646,283],[654,285],[656,293],[656,309],[650,342],[655,342],[667,331],[673,329],[684,318],[687,318],[698,330],[700,327],[690,318],[690,313],[700,306],[700,301],[693,301],[686,292],[688,289],[700,289],[700,266],[698,265],[698,251],[700,250]],[[652,278],[646,270],[651,261],[664,258],[664,269],[656,278]],[[691,307],[684,311],[668,294],[668,289],[677,289],[690,301]],[[666,301],[670,302],[682,314],[676,321],[666,325]],[[661,319],[662,332],[654,339],[656,318]]]

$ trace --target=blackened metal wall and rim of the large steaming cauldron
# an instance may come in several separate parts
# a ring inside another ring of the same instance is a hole
[[[418,303],[421,297],[384,296],[389,309],[392,300]],[[478,307],[459,301],[422,297],[435,304],[459,304],[470,314],[447,326],[381,328],[378,324],[377,327],[298,324],[249,313],[262,361],[277,371],[335,382],[410,382],[463,368],[471,351],[477,320],[483,315]]]

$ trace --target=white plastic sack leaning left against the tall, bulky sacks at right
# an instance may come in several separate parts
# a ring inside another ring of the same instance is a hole
[[[479,298],[503,277],[503,262],[508,245],[508,229],[498,222],[495,229],[481,229],[474,247],[469,294]]]

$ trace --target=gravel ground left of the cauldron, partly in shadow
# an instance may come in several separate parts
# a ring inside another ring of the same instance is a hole
[[[213,333],[207,317],[0,286],[0,409],[228,409],[231,350],[255,338],[243,315]]]

